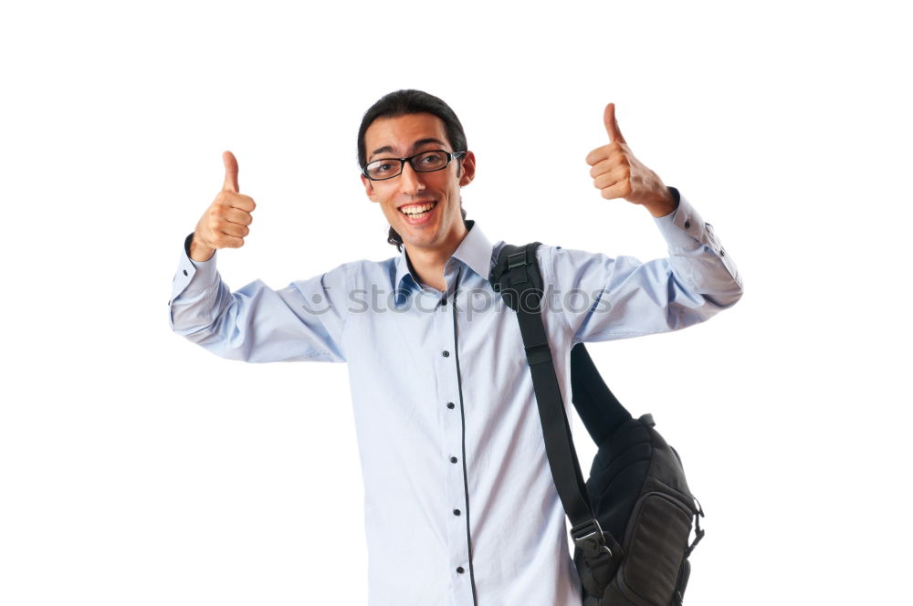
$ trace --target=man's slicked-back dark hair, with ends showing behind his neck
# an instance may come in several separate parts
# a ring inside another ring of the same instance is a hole
[[[378,118],[397,118],[414,113],[430,113],[444,122],[444,131],[447,141],[453,146],[453,151],[465,151],[466,133],[463,125],[456,117],[454,110],[450,109],[442,99],[429,95],[425,91],[415,89],[394,90],[378,99],[362,118],[362,126],[358,129],[358,166],[364,168],[368,162],[368,153],[364,148],[364,133],[374,120]],[[466,210],[463,209],[463,200],[460,199],[460,214],[466,221]],[[396,250],[403,252],[403,238],[396,233],[393,225],[387,234],[387,242],[396,246]]]

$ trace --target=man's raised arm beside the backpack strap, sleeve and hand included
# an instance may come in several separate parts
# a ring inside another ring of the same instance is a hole
[[[593,185],[603,198],[645,206],[666,238],[669,256],[642,263],[633,256],[548,247],[543,265],[564,294],[561,311],[573,342],[682,329],[734,305],[742,295],[741,277],[713,226],[635,158],[618,128],[614,104],[606,106],[603,121],[610,142],[586,157]]]

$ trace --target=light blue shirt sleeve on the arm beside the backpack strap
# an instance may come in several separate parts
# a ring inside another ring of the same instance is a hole
[[[669,256],[641,263],[561,246],[548,246],[543,266],[558,305],[579,342],[625,339],[683,329],[709,319],[741,298],[742,280],[713,226],[676,188],[677,209],[655,217]]]

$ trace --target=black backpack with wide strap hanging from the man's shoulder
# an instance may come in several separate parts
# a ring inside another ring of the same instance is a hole
[[[632,418],[578,343],[571,350],[572,402],[599,447],[584,483],[540,314],[539,246],[505,245],[490,281],[517,312],[551,475],[572,524],[583,605],[678,606],[687,558],[704,536],[704,512],[653,417]],[[688,545],[692,518],[695,539]]]

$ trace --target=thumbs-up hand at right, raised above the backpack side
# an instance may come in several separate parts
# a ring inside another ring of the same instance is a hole
[[[643,204],[650,214],[665,216],[677,207],[675,198],[656,172],[651,171],[634,157],[622,131],[615,121],[615,104],[605,106],[603,115],[609,144],[597,147],[586,156],[592,166],[593,185],[601,190],[603,198],[624,198],[634,204]]]

